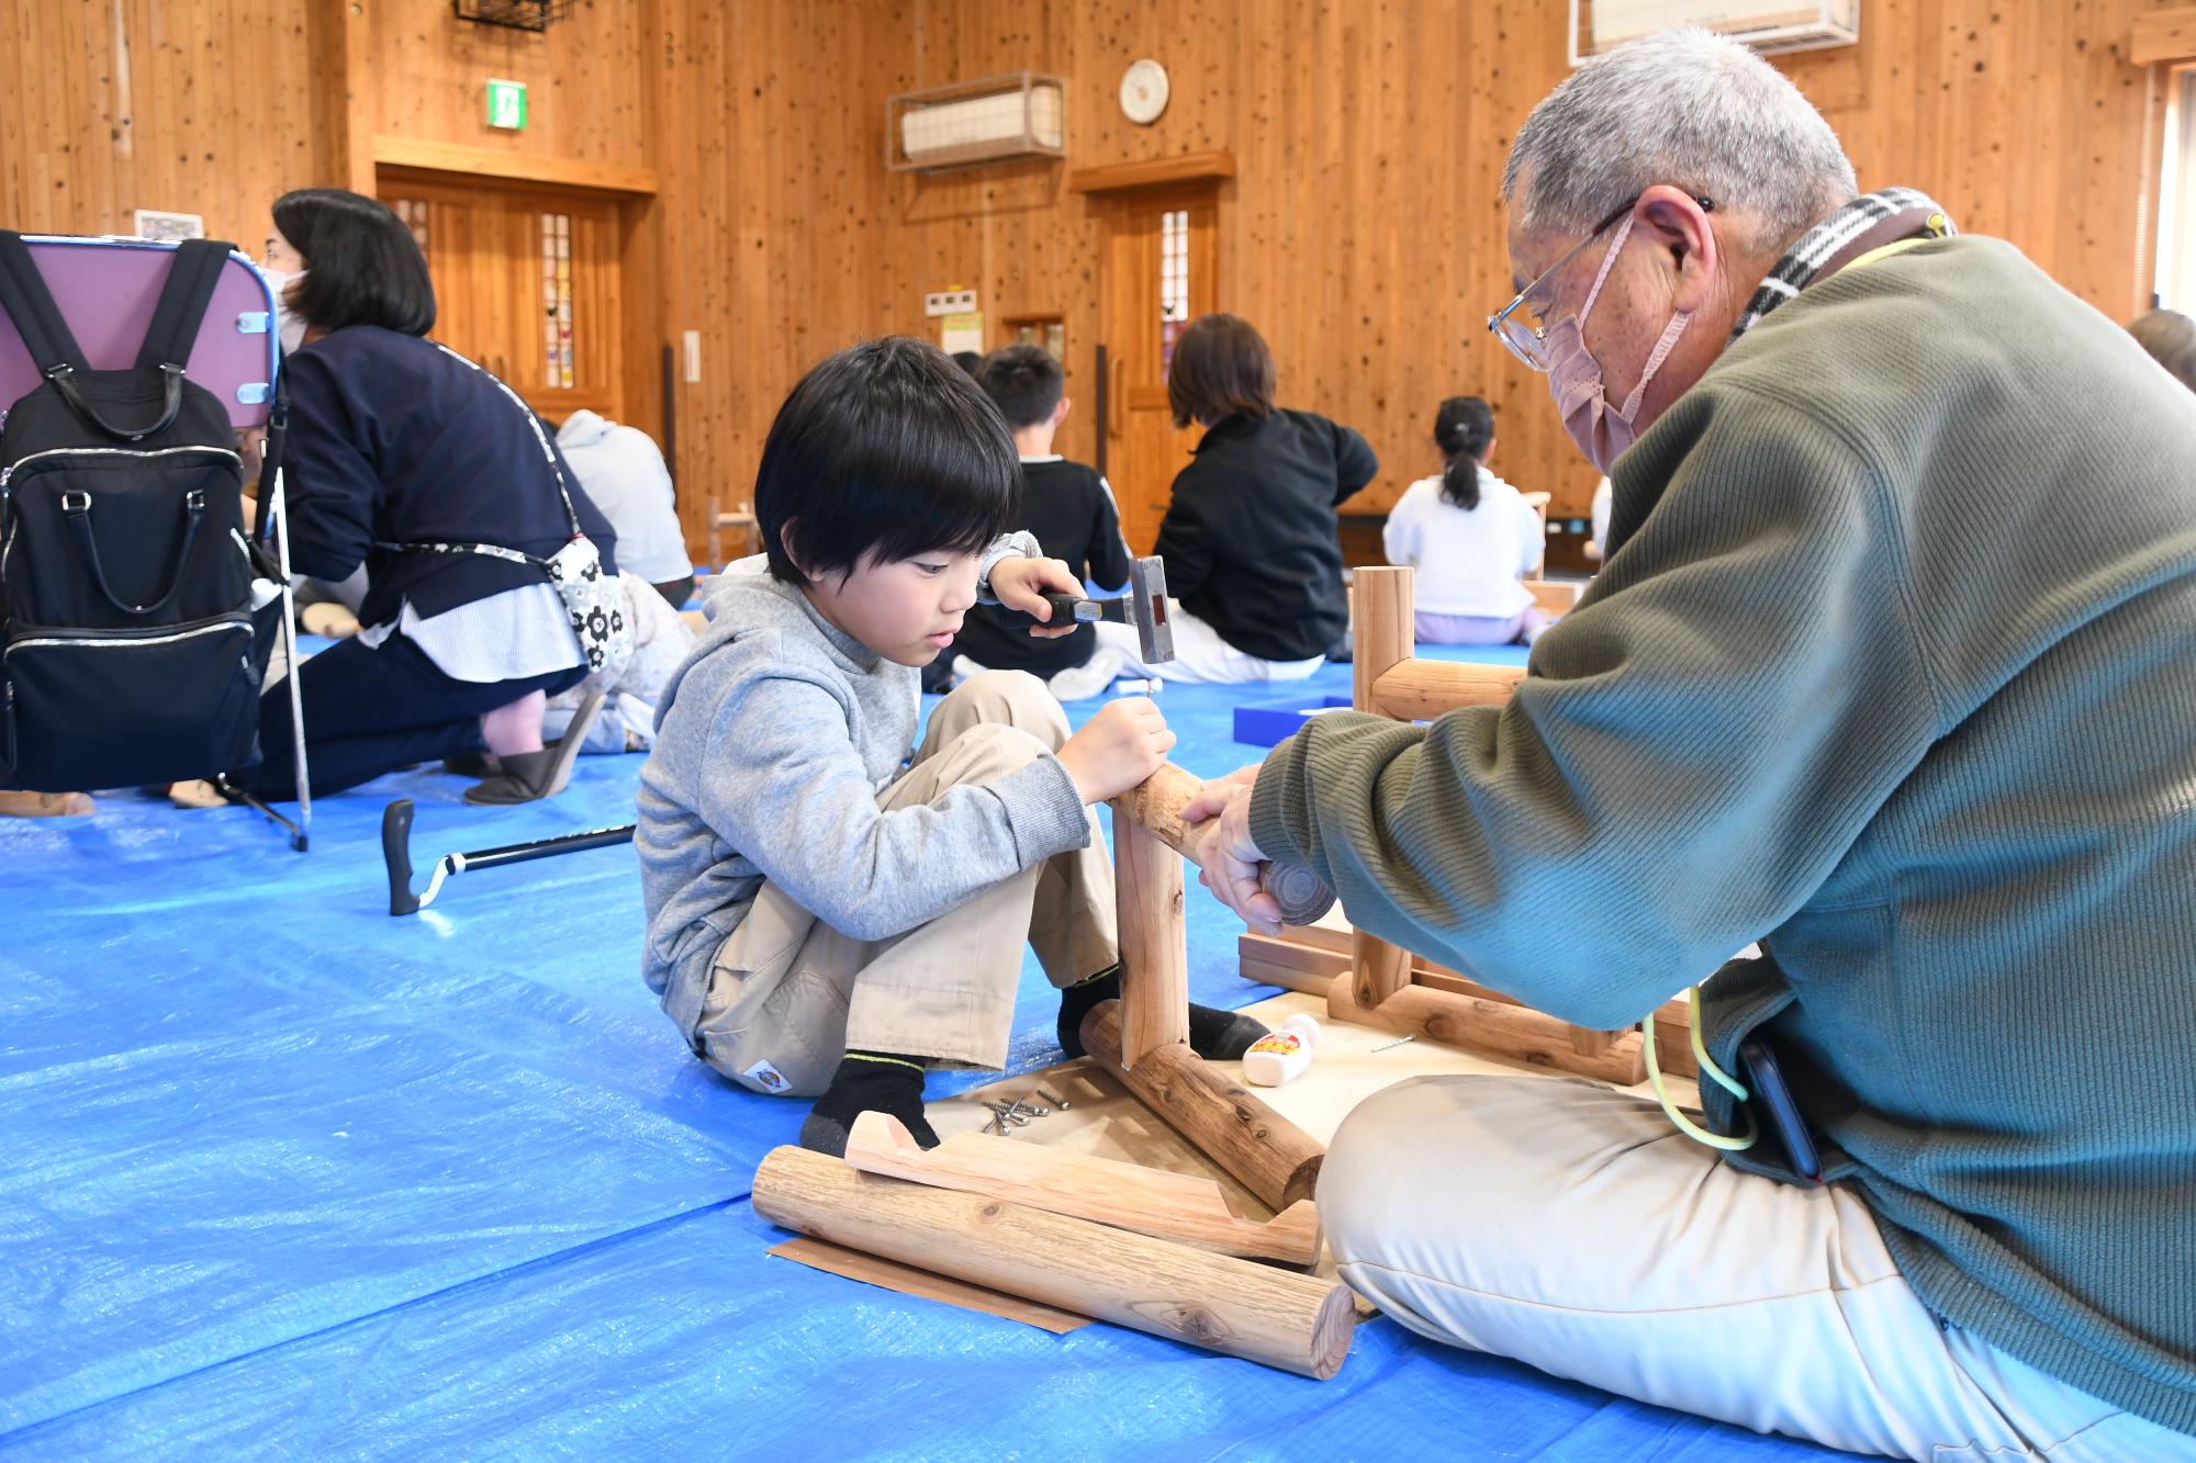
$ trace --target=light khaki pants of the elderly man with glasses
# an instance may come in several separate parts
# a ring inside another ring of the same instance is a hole
[[[1320,1221],[1412,1331],[1623,1397],[1932,1463],[2196,1459],[1932,1316],[1851,1193],[1739,1173],[1594,1083],[1388,1087],[1335,1133]]]

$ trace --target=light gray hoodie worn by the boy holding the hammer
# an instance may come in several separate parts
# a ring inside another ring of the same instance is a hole
[[[760,556],[725,573],[707,615],[657,705],[632,835],[641,967],[690,1037],[709,962],[764,879],[832,929],[883,940],[1089,839],[1052,758],[881,811],[916,745],[920,672],[834,628]]]

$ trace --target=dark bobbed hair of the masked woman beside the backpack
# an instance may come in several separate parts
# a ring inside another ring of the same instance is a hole
[[[380,325],[404,336],[435,330],[426,255],[389,204],[343,189],[296,189],[274,200],[274,226],[305,257],[290,308],[307,325]]]

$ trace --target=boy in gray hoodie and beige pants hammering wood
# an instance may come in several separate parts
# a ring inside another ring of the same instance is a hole
[[[975,382],[918,340],[815,367],[755,474],[764,554],[709,595],[641,771],[648,984],[694,1052],[753,1092],[815,1096],[806,1147],[861,1112],[925,1144],[927,1065],[1001,1068],[1028,940],[1061,1048],[1118,993],[1113,876],[1089,804],[1159,767],[1149,699],[1067,734],[1032,677],[946,696],[916,747],[920,668],[988,589],[1039,617],[1067,565],[1001,538],[1021,468]],[[909,760],[911,753],[911,760]],[[1190,1008],[1192,1046],[1263,1026]]]

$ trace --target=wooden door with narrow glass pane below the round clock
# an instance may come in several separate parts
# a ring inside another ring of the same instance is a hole
[[[1214,308],[1217,213],[1210,185],[1144,189],[1102,204],[1107,479],[1135,554],[1151,554],[1175,472],[1203,435],[1195,422],[1175,428],[1166,367],[1184,325]]]

